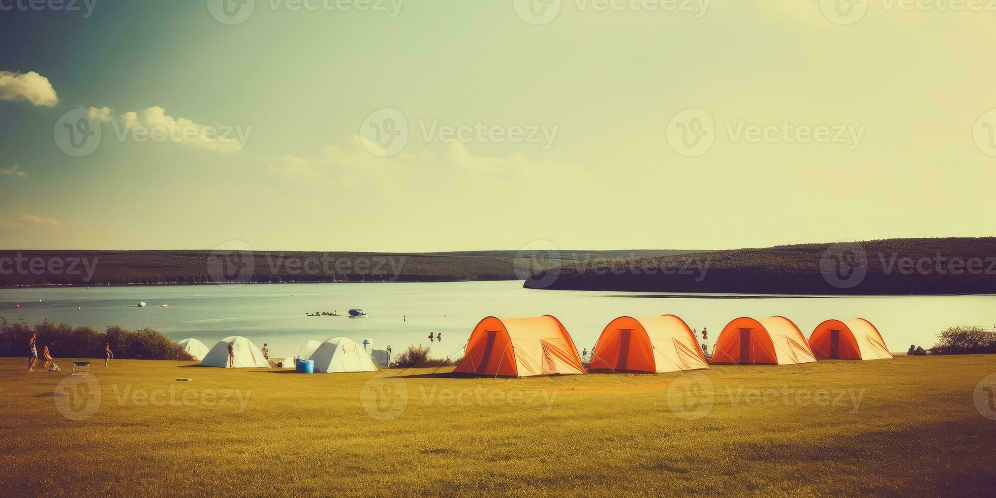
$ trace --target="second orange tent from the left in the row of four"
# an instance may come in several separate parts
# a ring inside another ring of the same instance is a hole
[[[698,340],[680,318],[621,317],[602,331],[590,371],[678,372],[708,369]]]

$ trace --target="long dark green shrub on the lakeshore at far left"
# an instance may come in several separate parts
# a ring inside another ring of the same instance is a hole
[[[0,357],[27,357],[32,333],[38,335],[39,357],[48,346],[55,358],[104,358],[104,345],[110,344],[115,358],[124,360],[193,360],[179,345],[149,328],[130,332],[109,327],[102,334],[89,327],[74,329],[45,321],[32,328],[4,319],[0,319]]]

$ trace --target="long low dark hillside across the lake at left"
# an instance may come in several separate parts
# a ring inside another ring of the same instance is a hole
[[[281,282],[524,280],[532,271],[590,259],[688,251],[0,251],[0,287]]]

